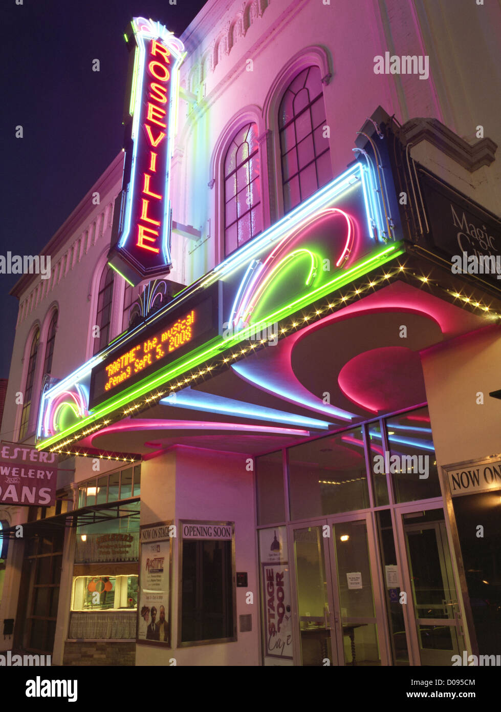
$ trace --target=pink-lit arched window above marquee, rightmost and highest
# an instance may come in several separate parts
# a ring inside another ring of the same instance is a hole
[[[307,67],[285,90],[278,111],[284,211],[332,180],[320,69]]]

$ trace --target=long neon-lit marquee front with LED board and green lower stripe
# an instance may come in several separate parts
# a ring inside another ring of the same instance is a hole
[[[213,363],[229,362],[228,354],[234,360],[258,332],[275,325],[280,335],[291,315],[394,261],[404,245],[390,218],[391,194],[371,164],[354,162],[43,392],[39,446],[68,444],[78,431],[85,437],[132,412],[135,399],[144,405],[144,397],[179,390],[194,369],[203,375]]]

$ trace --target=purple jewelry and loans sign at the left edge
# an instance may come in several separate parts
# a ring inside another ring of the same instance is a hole
[[[31,446],[0,443],[0,503],[56,504],[58,455]]]

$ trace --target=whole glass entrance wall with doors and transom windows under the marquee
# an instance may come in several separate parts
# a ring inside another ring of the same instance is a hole
[[[255,468],[264,664],[450,665],[464,641],[428,408]],[[290,582],[280,629],[276,567]]]

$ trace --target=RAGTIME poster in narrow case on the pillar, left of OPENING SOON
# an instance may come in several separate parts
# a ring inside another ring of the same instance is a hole
[[[171,538],[173,527],[141,527],[137,640],[170,645]]]

